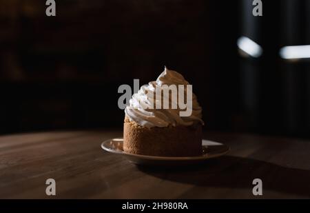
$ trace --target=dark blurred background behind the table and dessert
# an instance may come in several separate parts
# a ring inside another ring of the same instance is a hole
[[[0,0],[0,134],[121,130],[118,86],[167,65],[205,130],[310,138],[310,1],[252,2]]]

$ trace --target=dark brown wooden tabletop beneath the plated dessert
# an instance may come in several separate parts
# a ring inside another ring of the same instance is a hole
[[[190,168],[145,168],[101,150],[120,131],[0,136],[0,198],[260,199],[310,198],[310,142],[207,133],[231,146],[227,156]],[[56,196],[45,181],[56,181]],[[254,179],[262,196],[254,196]]]

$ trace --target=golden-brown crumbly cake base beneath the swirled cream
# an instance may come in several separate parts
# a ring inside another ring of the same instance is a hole
[[[199,156],[203,152],[201,129],[200,123],[145,128],[125,117],[123,150],[151,156]]]

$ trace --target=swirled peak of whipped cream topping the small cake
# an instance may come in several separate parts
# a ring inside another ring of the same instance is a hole
[[[130,105],[125,108],[125,114],[130,121],[134,121],[138,125],[147,128],[165,128],[169,125],[189,126],[195,123],[204,124],[201,119],[202,108],[195,94],[192,94],[192,114],[190,116],[180,116],[180,112],[186,109],[181,110],[177,103],[176,109],[156,109],[155,105],[158,101],[161,103],[163,103],[163,99],[172,101],[171,95],[168,95],[168,97],[161,95],[163,85],[176,85],[177,87],[178,85],[184,85],[186,94],[189,83],[178,72],[165,68],[165,71],[156,81],[149,82],[148,85],[143,85],[138,90],[138,93],[134,94],[132,99],[130,99]],[[169,102],[170,105],[172,105],[171,102]]]

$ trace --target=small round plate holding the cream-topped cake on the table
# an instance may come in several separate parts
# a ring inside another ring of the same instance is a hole
[[[123,151],[123,139],[109,139],[101,143],[103,150],[124,156],[128,161],[138,165],[189,165],[223,156],[229,152],[229,147],[223,143],[203,140],[203,154],[200,156],[148,156],[130,154]]]

